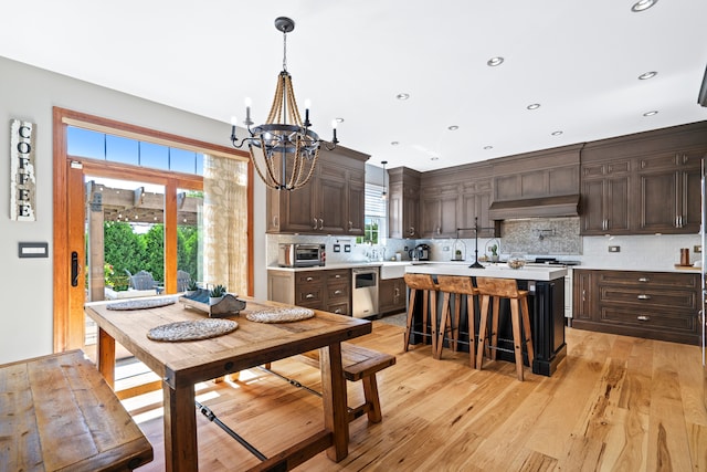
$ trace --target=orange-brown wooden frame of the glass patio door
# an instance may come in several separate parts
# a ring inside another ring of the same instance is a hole
[[[53,109],[53,294],[54,352],[83,348],[85,276],[85,185],[84,174],[134,179],[165,185],[165,289],[177,289],[177,190],[202,188],[201,176],[126,166],[67,155],[66,127],[80,126],[118,136],[169,144],[204,154],[246,160],[247,154],[232,148],[170,135],[125,123],[73,112]],[[253,261],[253,166],[247,168],[247,256]],[[72,258],[73,256],[73,258]],[[73,261],[75,260],[75,261]],[[249,295],[253,294],[253,264],[249,264]]]

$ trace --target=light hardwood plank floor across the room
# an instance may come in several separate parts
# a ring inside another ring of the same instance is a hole
[[[515,366],[468,367],[464,354],[402,352],[403,329],[373,323],[357,340],[398,357],[379,374],[383,421],[350,424],[349,455],[319,454],[302,471],[707,471],[707,412],[699,348],[567,329],[568,357],[552,377],[516,379]],[[293,360],[273,369],[319,388],[318,371]],[[265,455],[321,427],[320,400],[256,369],[238,382],[204,384],[198,399]],[[349,397],[362,399],[360,385]],[[139,471],[163,470],[160,392],[125,401],[155,447]],[[351,401],[354,402],[354,401]],[[257,460],[199,415],[202,471]]]

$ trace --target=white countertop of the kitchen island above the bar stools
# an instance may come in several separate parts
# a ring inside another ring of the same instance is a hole
[[[409,265],[405,272],[433,275],[486,276],[495,279],[515,279],[523,281],[553,281],[567,275],[567,268],[562,265],[526,265],[521,269],[510,269],[508,265],[484,264],[484,269],[471,269],[471,264],[430,262]]]

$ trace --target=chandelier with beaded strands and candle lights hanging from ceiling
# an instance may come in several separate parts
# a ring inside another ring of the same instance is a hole
[[[276,190],[296,190],[305,186],[314,174],[323,143],[333,150],[337,143],[336,124],[331,122],[334,138],[331,147],[309,129],[309,105],[305,103],[305,119],[302,120],[292,76],[287,72],[287,33],[295,29],[289,18],[279,17],[275,28],[283,32],[283,71],[277,76],[275,98],[264,124],[251,127],[251,106],[245,104],[245,120],[250,136],[239,143],[235,136],[236,119],[232,118],[231,144],[241,148],[247,144],[251,161],[257,175],[270,188]]]

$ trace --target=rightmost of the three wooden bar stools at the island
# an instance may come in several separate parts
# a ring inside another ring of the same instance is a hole
[[[476,368],[481,369],[484,363],[484,349],[494,350],[493,359],[496,359],[495,350],[498,349],[498,307],[500,298],[510,301],[510,319],[513,324],[513,345],[516,355],[516,374],[518,380],[523,380],[523,345],[526,345],[528,352],[528,364],[532,367],[535,358],[532,350],[532,336],[530,334],[530,316],[528,314],[528,291],[518,290],[518,283],[514,279],[490,279],[476,277],[476,289],[482,297],[481,304],[481,327],[478,329],[478,352],[476,354]],[[488,302],[493,297],[493,322],[489,346],[487,323],[488,323]],[[520,313],[518,313],[520,312]],[[525,339],[520,336],[520,316],[523,316],[523,332]]]

